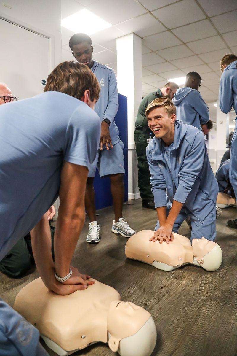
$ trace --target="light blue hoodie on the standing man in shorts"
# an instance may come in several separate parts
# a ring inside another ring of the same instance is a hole
[[[110,121],[109,133],[112,139],[112,144],[118,143],[119,130],[115,125],[114,117],[118,111],[118,88],[117,79],[112,68],[104,66],[94,61],[92,72],[95,74],[100,84],[99,100],[95,105],[95,112],[99,115],[101,122],[103,119]],[[104,147],[106,147],[104,145]]]

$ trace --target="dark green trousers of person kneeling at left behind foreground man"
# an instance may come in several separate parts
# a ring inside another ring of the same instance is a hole
[[[52,238],[52,255],[54,255],[53,238],[55,227],[50,226],[50,230]],[[22,277],[27,274],[31,267],[31,262],[33,262],[31,235],[27,234],[20,239],[0,261],[0,271],[11,278]]]

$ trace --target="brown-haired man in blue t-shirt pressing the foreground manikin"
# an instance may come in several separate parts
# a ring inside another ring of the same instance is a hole
[[[85,221],[86,180],[100,139],[101,122],[92,110],[99,84],[83,64],[63,62],[49,75],[44,91],[0,108],[0,260],[31,231],[45,286],[66,295],[94,283],[70,265]],[[58,196],[54,263],[46,212]],[[18,350],[35,356],[38,331],[29,330],[27,344],[11,332],[18,328],[24,333],[26,321],[21,327],[19,318],[0,302],[0,344],[6,355]]]

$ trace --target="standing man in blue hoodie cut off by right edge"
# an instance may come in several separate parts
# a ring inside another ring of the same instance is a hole
[[[221,59],[221,75],[219,101],[221,111],[228,114],[232,106],[237,115],[237,57],[235,54],[226,54]],[[230,182],[237,197],[237,117],[235,130],[231,141],[230,155]],[[228,225],[237,229],[237,219],[229,220]]]

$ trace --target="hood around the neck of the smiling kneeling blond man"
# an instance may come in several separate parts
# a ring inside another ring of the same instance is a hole
[[[179,147],[179,143],[183,139],[183,137],[188,129],[188,125],[184,124],[182,120],[175,120],[174,126],[175,126],[174,127],[174,143],[173,143],[173,147],[172,147],[171,151],[176,150]],[[163,144],[162,140],[161,140],[161,138],[156,138],[156,137],[153,137],[152,141],[153,140],[155,140],[155,143],[153,143],[153,147],[152,147],[153,153],[152,153],[151,160],[160,159],[163,156],[162,148],[161,148],[161,145]]]

